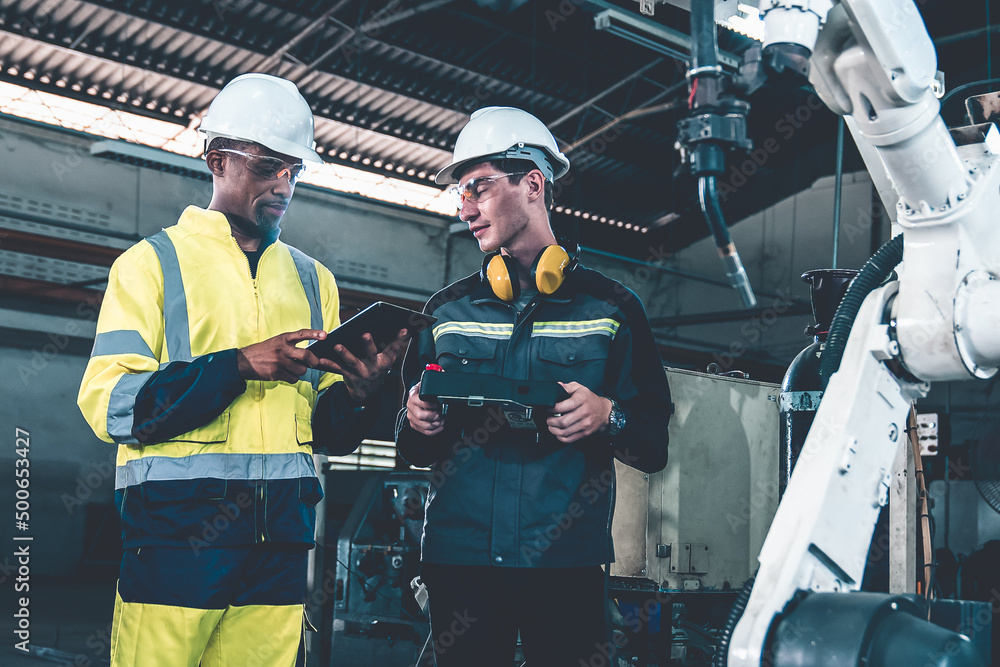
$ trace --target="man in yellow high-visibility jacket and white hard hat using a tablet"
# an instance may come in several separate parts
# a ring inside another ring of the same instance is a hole
[[[290,666],[322,497],[312,444],[357,447],[405,332],[337,363],[299,346],[340,320],[333,275],[277,239],[303,161],[322,162],[294,84],[238,77],[199,129],[212,201],[115,262],[78,399],[118,443],[111,664]]]

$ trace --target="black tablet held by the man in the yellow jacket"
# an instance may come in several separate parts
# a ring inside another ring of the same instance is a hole
[[[309,351],[317,357],[338,361],[340,355],[336,353],[334,347],[343,345],[351,354],[361,359],[366,356],[365,341],[362,338],[364,334],[370,333],[375,340],[375,347],[381,351],[396,340],[400,329],[406,329],[410,335],[416,335],[436,321],[436,317],[385,301],[376,301],[328,333],[323,340],[313,341],[309,345]]]

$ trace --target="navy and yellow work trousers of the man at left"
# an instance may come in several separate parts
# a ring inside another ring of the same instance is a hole
[[[127,549],[112,667],[294,667],[307,557],[259,545]]]

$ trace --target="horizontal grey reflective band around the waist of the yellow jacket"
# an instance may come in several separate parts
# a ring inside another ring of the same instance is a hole
[[[264,473],[267,472],[265,478]],[[144,482],[192,479],[299,479],[316,477],[316,466],[305,452],[287,454],[195,454],[146,456],[115,469],[115,488]]]

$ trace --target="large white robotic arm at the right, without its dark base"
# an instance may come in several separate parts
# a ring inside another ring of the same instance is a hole
[[[904,261],[898,282],[865,300],[830,378],[730,667],[776,657],[776,619],[802,591],[860,588],[911,401],[932,381],[988,378],[1000,366],[1000,156],[989,142],[957,147],[938,115],[936,55],[912,0],[762,0],[760,9],[765,54],[807,50],[818,94],[849,117],[869,169],[888,174]],[[812,664],[796,655],[791,664]]]

